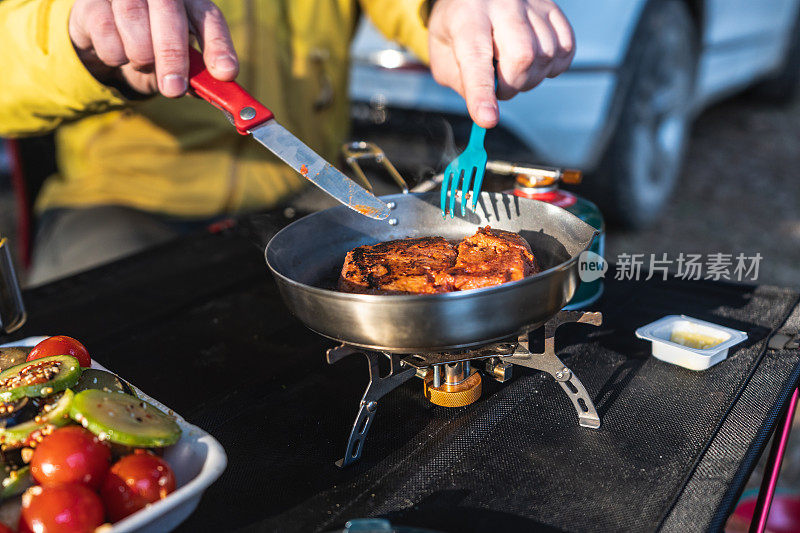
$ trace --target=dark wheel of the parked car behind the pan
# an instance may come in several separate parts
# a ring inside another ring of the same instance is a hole
[[[609,222],[646,227],[672,194],[691,122],[697,50],[686,4],[650,2],[620,73],[616,126],[584,189]]]

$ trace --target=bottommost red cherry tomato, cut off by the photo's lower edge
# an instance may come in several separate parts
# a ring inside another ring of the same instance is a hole
[[[32,487],[22,496],[20,522],[30,531],[91,532],[104,522],[103,503],[80,483]]]

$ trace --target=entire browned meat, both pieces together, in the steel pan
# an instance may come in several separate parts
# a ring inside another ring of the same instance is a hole
[[[362,294],[423,294],[477,289],[539,271],[528,243],[489,226],[453,246],[422,237],[359,246],[348,252],[339,290]]]

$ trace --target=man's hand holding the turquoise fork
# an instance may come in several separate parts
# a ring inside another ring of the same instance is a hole
[[[508,100],[545,77],[558,76],[575,55],[575,36],[550,0],[436,0],[428,23],[434,79],[467,101],[472,119],[497,125],[497,96]]]

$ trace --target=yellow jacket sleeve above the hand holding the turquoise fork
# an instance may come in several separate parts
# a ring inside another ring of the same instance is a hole
[[[429,62],[430,0],[361,0],[361,6],[387,39],[405,46],[425,63]]]

